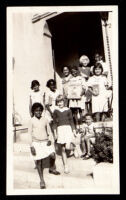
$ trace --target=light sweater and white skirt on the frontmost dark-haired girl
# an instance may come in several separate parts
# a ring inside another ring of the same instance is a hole
[[[50,126],[44,117],[40,119],[33,117],[30,120],[29,132],[31,134],[31,146],[35,148],[36,155],[32,155],[34,160],[40,160],[48,157],[51,153],[55,152],[54,146],[47,146],[50,137]]]

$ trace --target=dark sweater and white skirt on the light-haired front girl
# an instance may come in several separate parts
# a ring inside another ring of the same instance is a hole
[[[74,141],[75,130],[71,110],[67,107],[57,108],[53,114],[55,129],[57,129],[59,144],[70,144]]]

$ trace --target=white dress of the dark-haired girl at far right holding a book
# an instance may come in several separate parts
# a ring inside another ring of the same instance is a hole
[[[92,95],[92,113],[107,112],[108,111],[108,97],[109,92],[106,89],[108,85],[107,78],[100,76],[92,76],[89,78],[88,87],[97,89],[98,95]]]

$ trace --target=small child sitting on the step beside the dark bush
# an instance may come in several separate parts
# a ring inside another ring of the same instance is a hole
[[[83,124],[82,131],[81,144],[84,151],[82,157],[88,159],[91,157],[91,144],[95,142],[94,123],[90,114],[85,115],[85,124]]]

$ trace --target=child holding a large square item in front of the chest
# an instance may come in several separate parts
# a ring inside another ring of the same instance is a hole
[[[68,84],[69,108],[72,110],[76,128],[79,129],[82,116],[85,115],[86,81],[85,78],[79,75],[77,66],[72,67],[71,74],[72,78]]]

